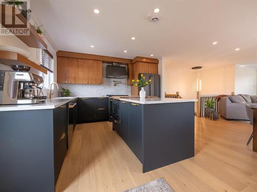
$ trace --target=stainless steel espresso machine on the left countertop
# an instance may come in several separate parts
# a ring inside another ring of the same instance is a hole
[[[0,104],[43,103],[41,76],[19,71],[0,71]]]

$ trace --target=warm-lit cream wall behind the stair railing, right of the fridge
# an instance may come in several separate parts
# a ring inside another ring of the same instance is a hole
[[[231,94],[234,92],[234,65],[201,70],[174,70],[166,67],[165,89],[168,94],[177,91],[182,98],[196,98],[194,82],[201,80],[201,95]]]

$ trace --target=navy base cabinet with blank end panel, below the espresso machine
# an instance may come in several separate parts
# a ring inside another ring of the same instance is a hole
[[[0,112],[0,191],[54,192],[67,152],[68,106]]]

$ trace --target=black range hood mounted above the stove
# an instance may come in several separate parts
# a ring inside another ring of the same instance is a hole
[[[106,66],[106,78],[124,79],[127,77],[126,67]]]

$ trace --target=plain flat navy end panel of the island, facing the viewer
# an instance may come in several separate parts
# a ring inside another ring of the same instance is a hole
[[[143,105],[143,173],[194,156],[194,102]]]

